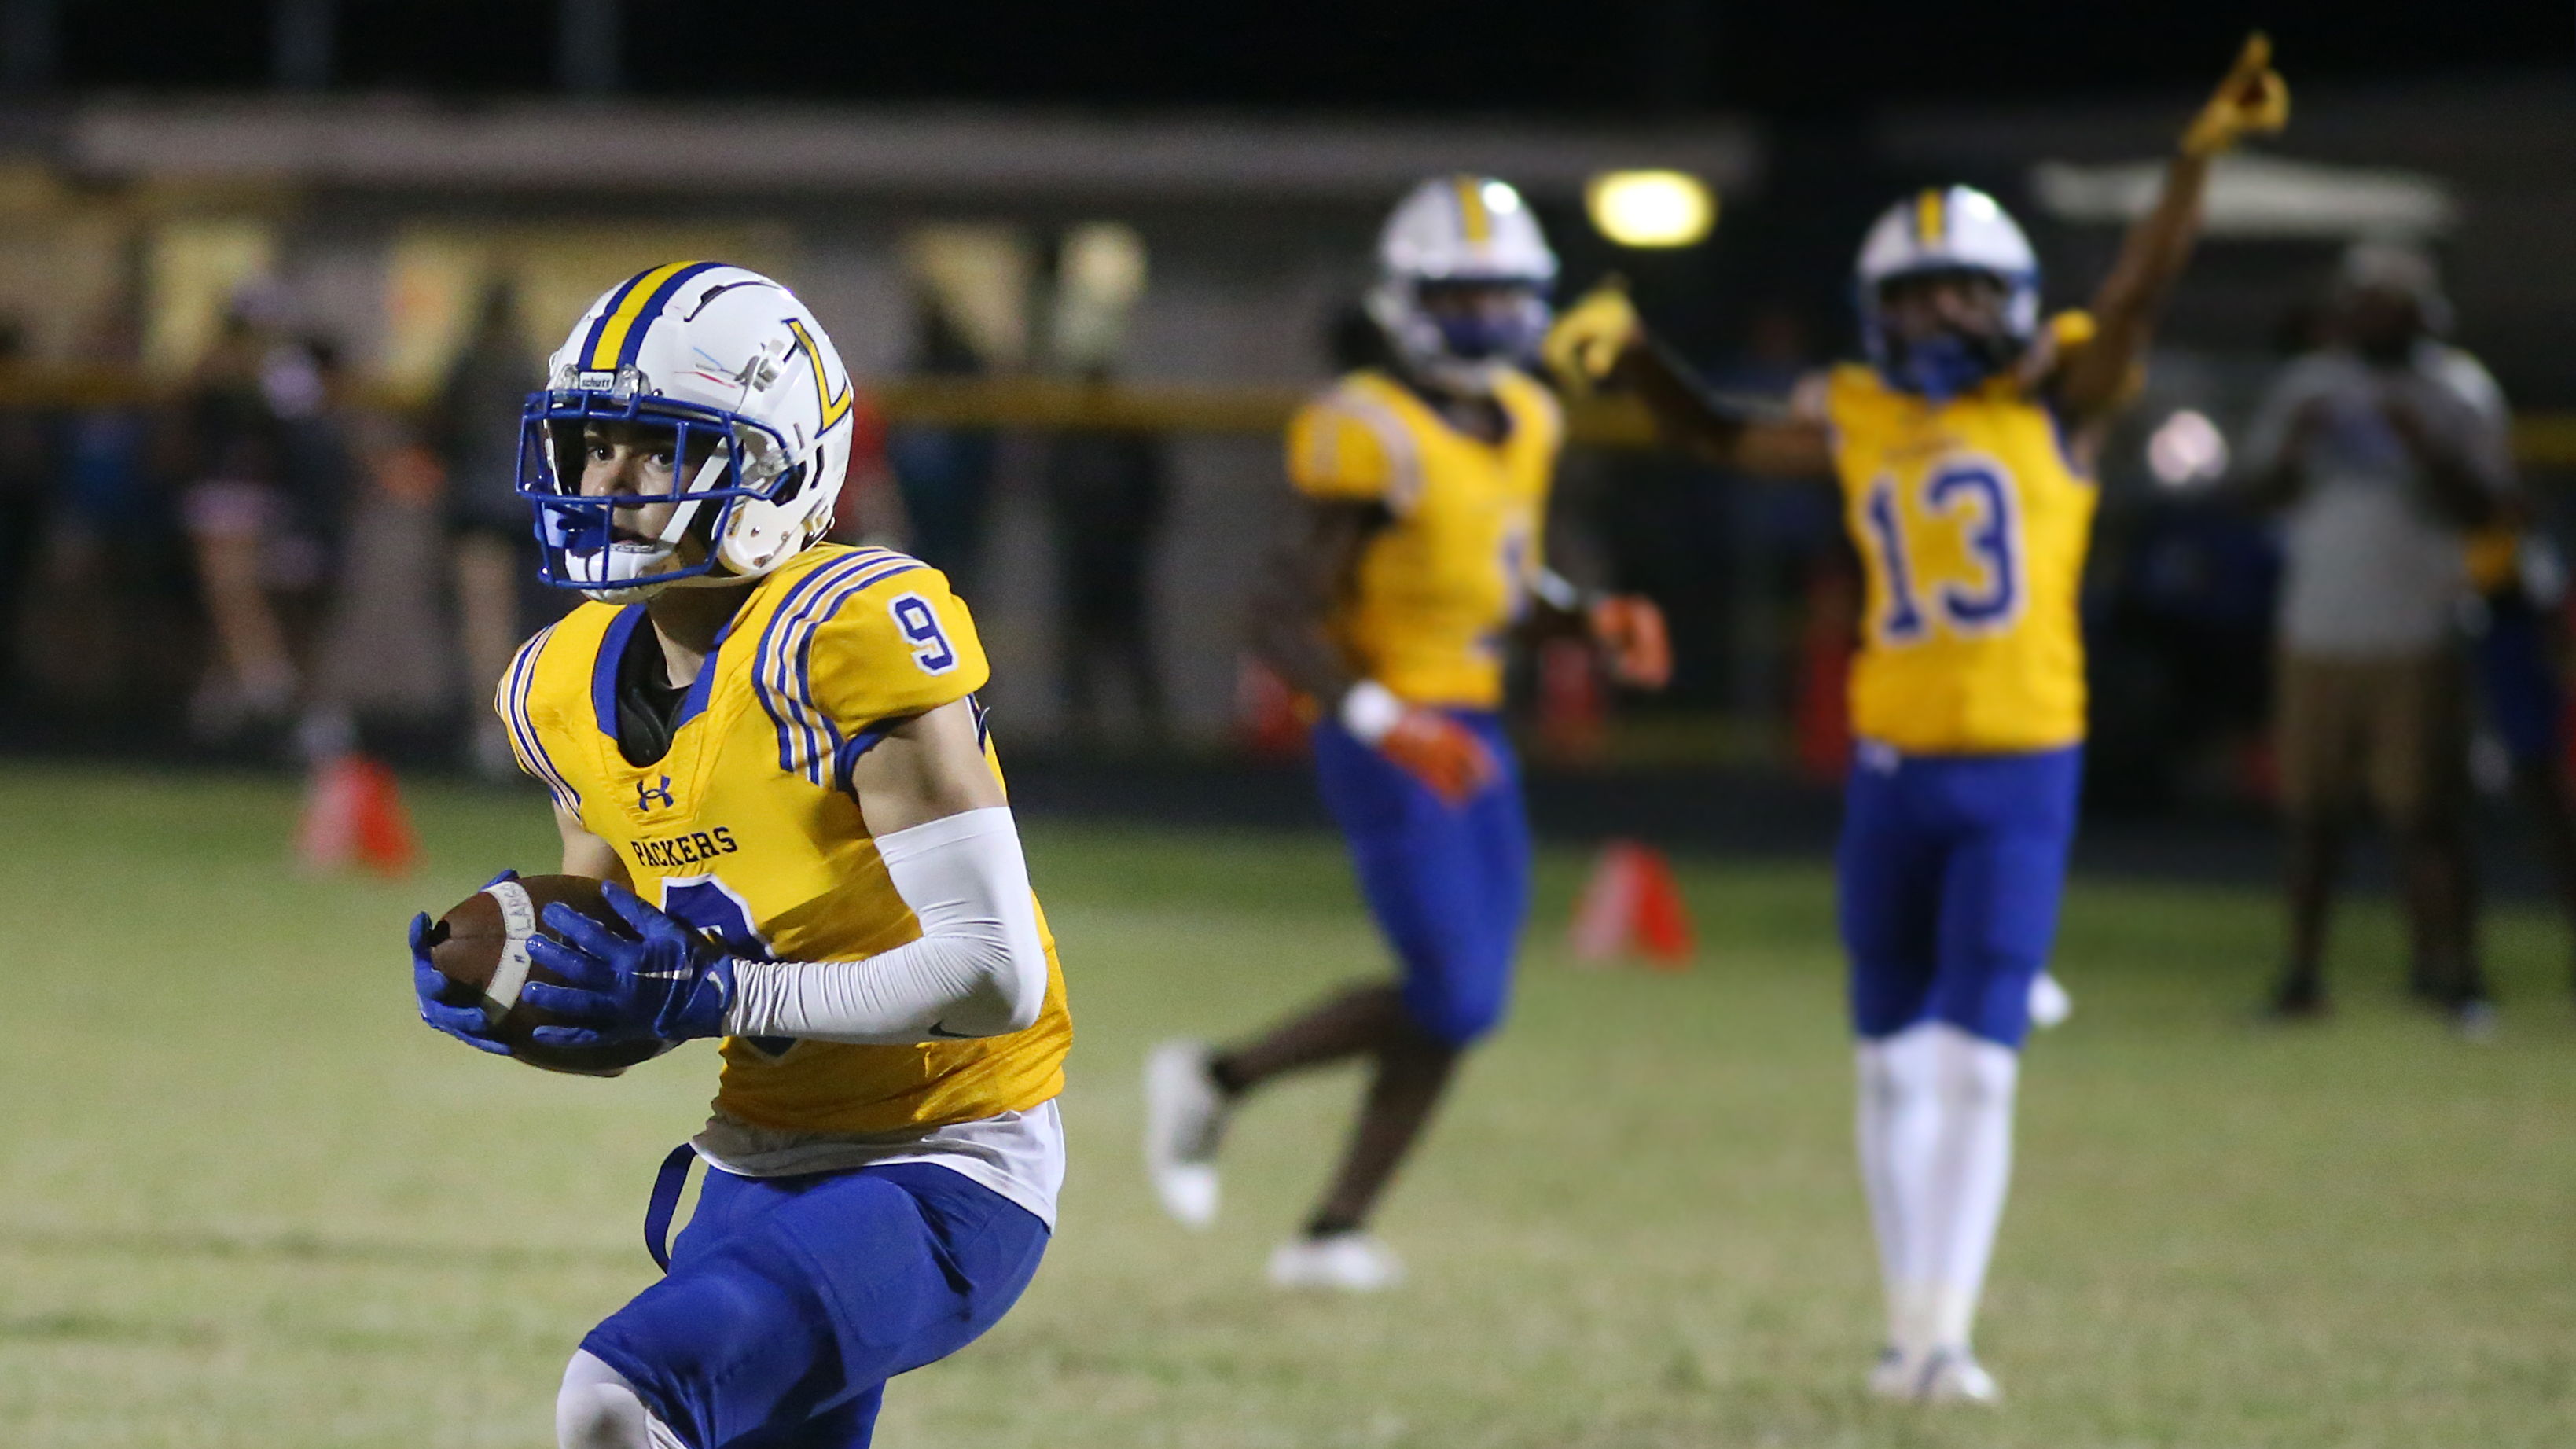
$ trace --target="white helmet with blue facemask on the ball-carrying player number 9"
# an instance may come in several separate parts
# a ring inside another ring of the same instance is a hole
[[[582,428],[672,428],[672,518],[618,539],[631,495],[582,498]],[[541,578],[608,603],[670,585],[760,578],[832,526],[850,467],[850,374],[786,286],[739,266],[683,260],[636,273],[582,312],[528,394],[518,492],[536,508]],[[670,567],[696,536],[701,557]]]

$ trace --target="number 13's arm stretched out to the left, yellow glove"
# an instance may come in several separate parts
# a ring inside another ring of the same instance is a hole
[[[1716,467],[1783,480],[1834,477],[1832,438],[1819,418],[1710,392],[1690,364],[1646,335],[1615,281],[1556,320],[1546,358],[1569,394],[1605,382],[1633,392],[1664,438]]]

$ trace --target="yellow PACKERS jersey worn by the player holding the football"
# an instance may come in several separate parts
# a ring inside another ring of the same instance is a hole
[[[616,846],[636,895],[783,962],[917,938],[850,768],[871,730],[987,681],[948,580],[891,549],[799,554],[726,624],[649,766],[626,763],[616,740],[618,655],[636,629],[652,629],[644,606],[585,603],[520,647],[497,696],[520,766]],[[1043,913],[1038,933],[1046,1008],[1028,1031],[914,1047],[726,1036],[716,1111],[788,1132],[902,1132],[1054,1098],[1072,1016]]]

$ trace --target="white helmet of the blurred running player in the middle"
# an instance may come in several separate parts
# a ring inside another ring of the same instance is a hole
[[[1443,284],[1517,286],[1510,317],[1443,320],[1422,304]],[[1425,382],[1492,392],[1548,335],[1556,253],[1528,201],[1489,175],[1437,175],[1414,186],[1378,232],[1378,286],[1368,315]]]

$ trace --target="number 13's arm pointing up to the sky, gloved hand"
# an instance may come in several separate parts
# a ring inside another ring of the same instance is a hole
[[[2277,131],[2290,119],[2290,88],[2272,70],[2272,41],[2246,39],[2236,67],[2182,134],[2164,170],[2156,206],[2120,245],[2120,260],[2094,291],[2094,335],[2071,351],[2056,376],[2056,400],[2079,428],[2099,425],[2128,402],[2138,361],[2156,335],[2156,320],[2174,291],[2192,245],[2200,240],[2200,196],[2210,162],[2251,134]]]

